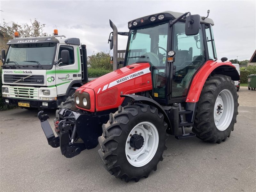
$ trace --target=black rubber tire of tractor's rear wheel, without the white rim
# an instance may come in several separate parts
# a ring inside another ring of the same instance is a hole
[[[212,106],[214,106],[215,100],[214,95],[216,91],[223,84],[230,84],[230,91],[234,97],[234,115],[229,127],[221,132],[218,131],[212,114]],[[236,116],[238,115],[238,94],[235,83],[229,76],[224,75],[214,75],[209,77],[203,87],[199,101],[196,108],[196,116],[192,131],[196,136],[204,141],[212,143],[221,143],[225,141],[227,137],[230,137],[231,131],[234,130],[234,124],[236,123]],[[217,131],[216,131],[217,130]]]

